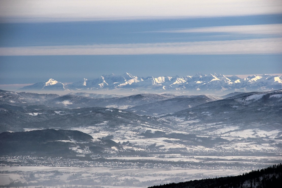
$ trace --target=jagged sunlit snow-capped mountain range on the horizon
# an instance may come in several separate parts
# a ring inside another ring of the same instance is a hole
[[[238,76],[224,76],[222,74],[201,73],[195,76],[160,76],[138,77],[130,73],[123,75],[102,75],[96,79],[83,78],[71,84],[63,84],[54,79],[25,86],[19,90],[113,90],[137,89],[146,91],[190,91],[190,92],[237,92],[237,91],[266,91],[282,89],[282,76],[263,74],[252,75],[246,78]]]

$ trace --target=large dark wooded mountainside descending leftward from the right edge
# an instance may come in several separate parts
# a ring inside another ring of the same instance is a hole
[[[169,116],[202,123],[230,122],[235,125],[282,122],[282,91],[249,92],[204,103]]]

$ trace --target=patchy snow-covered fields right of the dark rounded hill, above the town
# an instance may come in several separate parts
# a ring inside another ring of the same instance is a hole
[[[182,119],[181,119],[182,121]],[[104,122],[103,124],[107,124]],[[103,126],[103,125],[102,125]],[[140,150],[148,149],[154,145],[159,151],[173,151],[178,148],[184,149],[184,152],[201,153],[205,152],[208,154],[212,153],[242,153],[242,152],[265,152],[272,154],[282,153],[281,147],[282,140],[275,139],[281,136],[282,130],[266,130],[263,125],[255,125],[256,128],[246,127],[245,129],[240,126],[226,125],[218,123],[205,123],[190,125],[187,122],[179,123],[174,125],[175,130],[171,130],[165,127],[152,127],[152,126],[131,126],[124,125],[118,127],[118,129],[104,129],[101,126],[91,127],[79,127],[73,128],[90,134],[93,138],[102,138],[108,135],[112,135],[112,140],[116,143],[130,142],[130,145],[126,145],[127,149]],[[197,138],[192,141],[184,141],[182,138],[146,138],[140,134],[140,132],[151,131],[162,131],[166,134],[170,133],[181,133],[189,136],[194,134]],[[222,138],[226,141],[220,141],[210,145],[209,140],[202,138],[209,138],[213,140],[215,138]],[[193,142],[193,143],[192,143]],[[229,154],[228,154],[229,155]]]

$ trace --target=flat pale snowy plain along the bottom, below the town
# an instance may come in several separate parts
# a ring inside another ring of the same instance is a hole
[[[158,164],[156,162],[156,164]],[[2,185],[12,181],[33,182],[38,185],[47,185],[44,182],[61,182],[63,185],[100,185],[117,187],[147,187],[170,182],[188,181],[202,178],[238,175],[256,168],[250,167],[224,167],[220,164],[213,167],[206,165],[194,168],[193,166],[180,168],[151,169],[118,169],[104,167],[0,167],[0,180]],[[30,180],[30,177],[34,178]],[[51,184],[51,183],[50,183]],[[49,184],[49,185],[50,185]],[[56,185],[56,184],[55,184]]]

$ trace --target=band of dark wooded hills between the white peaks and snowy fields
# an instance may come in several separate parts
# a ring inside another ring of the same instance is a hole
[[[129,125],[136,127],[140,124],[143,129],[144,126],[169,127],[179,123],[186,126],[193,122],[224,122],[236,127],[259,123],[280,129],[282,122],[282,90],[239,93],[224,99],[211,95],[169,94],[114,98],[56,96],[1,91],[0,132],[100,125],[126,125],[128,129]]]

